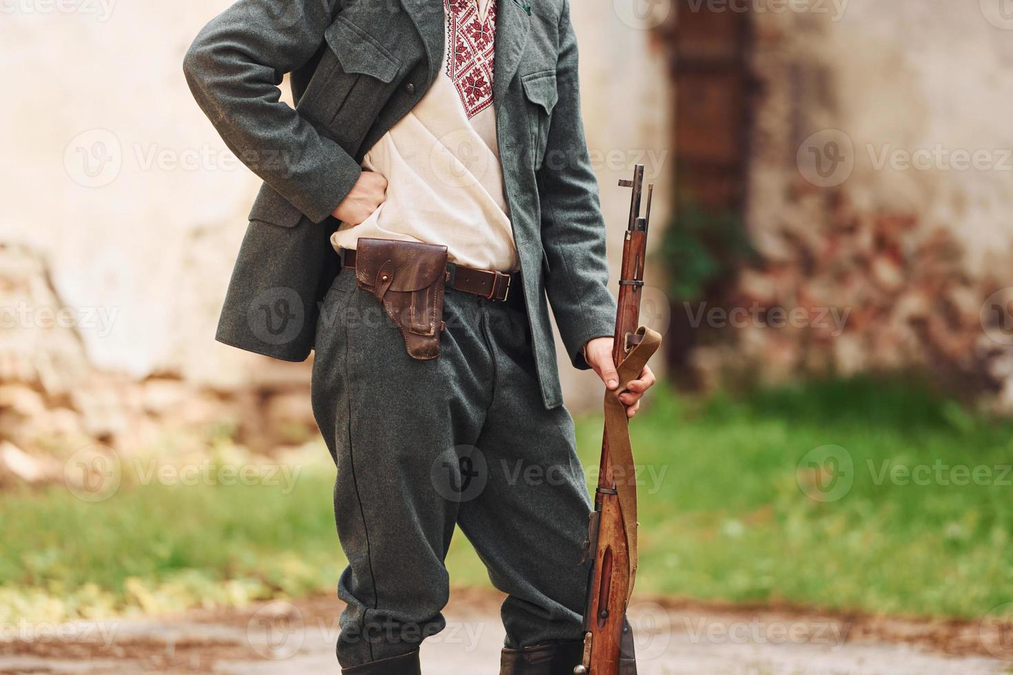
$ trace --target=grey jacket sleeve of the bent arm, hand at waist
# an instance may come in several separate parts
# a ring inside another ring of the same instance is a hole
[[[314,223],[344,199],[362,168],[281,101],[279,85],[319,49],[332,5],[238,0],[201,30],[183,60],[193,97],[229,149]]]

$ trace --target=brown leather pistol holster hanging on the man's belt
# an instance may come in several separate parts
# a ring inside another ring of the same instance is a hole
[[[408,355],[440,355],[447,247],[391,239],[361,238],[356,285],[380,301],[404,336]]]

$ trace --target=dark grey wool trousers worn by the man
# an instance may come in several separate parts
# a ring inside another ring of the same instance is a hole
[[[441,355],[415,360],[354,276],[327,292],[313,364],[348,559],[338,662],[412,652],[444,628],[455,525],[508,594],[506,647],[579,640],[592,505],[572,419],[542,403],[525,313],[448,288]]]

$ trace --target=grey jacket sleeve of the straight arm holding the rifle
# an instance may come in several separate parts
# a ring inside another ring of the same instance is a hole
[[[580,119],[576,36],[568,0],[559,20],[556,87],[558,99],[538,172],[542,246],[549,264],[545,288],[570,360],[586,369],[583,345],[613,334],[616,305],[608,287],[598,180]]]

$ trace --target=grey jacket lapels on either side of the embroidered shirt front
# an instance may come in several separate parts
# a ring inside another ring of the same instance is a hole
[[[521,65],[521,54],[531,27],[532,0],[496,0],[495,64],[492,73],[492,100],[506,94],[506,85]],[[446,16],[443,0],[401,0],[425,46],[428,84],[433,84],[443,61]],[[527,6],[525,8],[524,6]]]

